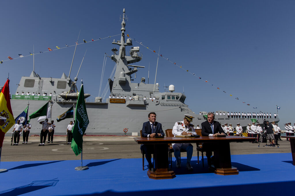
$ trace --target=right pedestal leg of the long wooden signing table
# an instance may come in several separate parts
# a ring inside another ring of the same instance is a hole
[[[239,174],[239,170],[236,167],[232,167],[230,158],[230,142],[217,142],[214,150],[215,160],[215,174],[219,175],[236,175]]]

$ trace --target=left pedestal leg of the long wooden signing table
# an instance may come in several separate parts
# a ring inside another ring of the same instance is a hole
[[[148,177],[152,179],[171,179],[176,177],[169,169],[168,145],[154,144],[154,168],[148,170]]]

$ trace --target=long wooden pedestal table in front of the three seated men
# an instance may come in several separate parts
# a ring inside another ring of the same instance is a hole
[[[148,137],[135,137],[134,140],[138,144],[154,145],[154,168],[148,170],[148,177],[152,179],[171,179],[176,177],[174,171],[169,169],[168,163],[168,144],[170,143],[203,143],[215,142],[220,148],[214,150],[214,157],[217,158],[218,168],[213,168],[215,174],[219,175],[235,175],[239,174],[236,167],[232,167],[230,158],[230,142],[254,142],[254,137],[164,137],[160,139]]]

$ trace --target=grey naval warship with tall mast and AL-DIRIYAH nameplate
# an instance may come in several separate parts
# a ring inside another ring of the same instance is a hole
[[[157,114],[157,121],[162,123],[163,130],[172,129],[175,122],[183,120],[184,114],[194,116],[193,124],[201,125],[206,120],[207,113],[195,114],[185,104],[186,95],[174,92],[173,85],[169,86],[167,92],[160,92],[158,84],[147,84],[144,77],[141,78],[140,83],[132,82],[132,74],[135,74],[140,70],[139,68],[144,68],[144,66],[135,65],[135,63],[142,60],[142,55],[139,52],[140,48],[132,46],[132,39],[125,35],[125,26],[126,15],[124,9],[121,38],[112,42],[112,44],[119,46],[119,50],[113,48],[112,52],[114,54],[110,57],[116,63],[114,77],[108,80],[110,97],[105,101],[102,101],[101,97],[96,97],[94,102],[86,102],[89,117],[86,134],[139,135],[143,122],[148,121],[150,112]],[[128,46],[130,46],[130,49],[129,52],[126,52]],[[73,81],[65,73],[62,74],[61,78],[40,77],[33,70],[30,77],[20,79],[16,92],[36,92],[36,94],[41,95],[43,92],[52,92],[53,96],[12,95],[11,106],[14,117],[17,117],[27,107],[28,102],[30,104],[30,115],[50,100],[52,104],[51,118],[55,120],[56,124],[55,135],[65,135],[66,127],[72,119],[56,122],[56,118],[72,107],[73,104],[75,105],[78,96],[76,83],[77,77]],[[87,96],[90,96],[90,94]],[[123,99],[120,99],[121,96]],[[223,113],[223,111],[218,112]],[[226,111],[224,112],[227,114]],[[223,115],[215,116],[215,120],[221,124],[225,122],[231,123],[233,127],[239,122],[243,130],[251,122],[249,118],[227,118],[227,116]],[[278,118],[268,120],[279,121]],[[30,123],[32,124],[30,135],[40,134],[41,125],[37,118],[32,119]]]

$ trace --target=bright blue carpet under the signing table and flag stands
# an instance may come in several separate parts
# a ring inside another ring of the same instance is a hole
[[[193,172],[173,170],[176,177],[167,180],[148,178],[142,171],[142,159],[83,160],[88,170],[76,171],[80,161],[1,162],[0,196],[4,195],[281,195],[292,194],[295,166],[291,153],[232,155],[232,166],[239,175],[216,175],[197,164]],[[145,161],[146,162],[146,161]],[[283,190],[283,192],[282,192]]]

